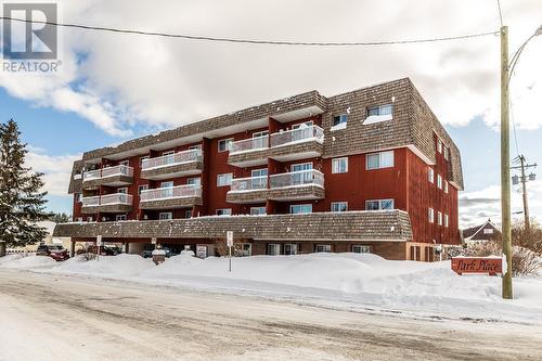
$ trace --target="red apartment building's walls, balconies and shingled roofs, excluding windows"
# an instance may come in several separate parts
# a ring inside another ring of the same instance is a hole
[[[392,119],[366,124],[369,108],[387,104]],[[339,115],[347,116],[345,128],[333,127]],[[268,136],[253,139],[261,132]],[[227,139],[233,149],[219,151]],[[384,151],[393,153],[392,166],[369,169],[367,154]],[[333,172],[336,157],[348,157],[347,172]],[[312,170],[293,172],[299,164]],[[261,169],[268,176],[251,178]],[[233,184],[218,185],[218,176],[229,173]],[[199,183],[189,184],[194,178]],[[160,190],[163,182],[173,186]],[[140,195],[142,186],[150,191]],[[387,258],[431,260],[435,244],[460,243],[461,190],[460,152],[405,78],[331,98],[311,91],[87,152],[69,183],[78,222],[57,225],[55,234],[194,246],[233,230],[253,254],[266,254],[268,244],[295,243],[302,253],[317,244],[332,252],[366,245]],[[393,199],[396,210],[365,210],[377,199]],[[348,211],[331,212],[335,202],[347,202]],[[312,214],[288,215],[295,205],[310,205]],[[267,216],[242,216],[251,208]],[[210,217],[221,209],[233,216]],[[160,221],[163,212],[173,219]],[[116,221],[125,216],[127,222]]]

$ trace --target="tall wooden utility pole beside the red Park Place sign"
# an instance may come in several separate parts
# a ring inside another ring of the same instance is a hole
[[[508,115],[508,27],[501,27],[501,212],[503,254],[506,273],[503,275],[503,298],[512,299],[512,231],[509,184],[509,115]]]

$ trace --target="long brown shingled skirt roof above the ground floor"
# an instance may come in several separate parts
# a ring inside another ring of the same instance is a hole
[[[314,212],[304,215],[208,216],[172,220],[56,224],[54,236],[104,238],[236,238],[299,241],[411,241],[403,210]]]

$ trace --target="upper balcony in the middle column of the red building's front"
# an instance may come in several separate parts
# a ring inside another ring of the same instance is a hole
[[[183,176],[198,175],[203,170],[201,150],[189,150],[156,158],[143,159],[141,178],[162,180]]]

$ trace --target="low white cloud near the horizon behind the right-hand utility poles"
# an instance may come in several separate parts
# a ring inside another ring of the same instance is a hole
[[[542,219],[542,180],[527,183],[530,217]],[[512,189],[513,218],[524,219],[522,193],[519,185]],[[521,212],[521,214],[519,214]],[[491,218],[501,222],[501,186],[490,185],[480,191],[467,192],[460,197],[460,225],[463,228],[477,225]]]

